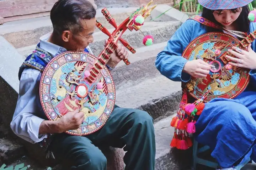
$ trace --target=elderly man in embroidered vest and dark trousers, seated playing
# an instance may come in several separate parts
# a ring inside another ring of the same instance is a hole
[[[124,156],[126,170],[153,170],[155,135],[153,119],[148,113],[115,106],[107,123],[86,136],[65,133],[78,129],[84,113],[70,112],[57,121],[49,121],[43,113],[39,100],[43,69],[53,57],[67,50],[91,53],[88,45],[94,40],[95,15],[95,8],[86,0],[58,0],[54,4],[50,12],[53,32],[40,38],[36,50],[20,68],[20,91],[11,129],[31,143],[40,143],[50,136],[48,148],[55,157],[71,160],[72,170],[106,170],[106,157],[96,147],[101,144],[127,151]],[[128,52],[119,44],[107,63],[108,69],[127,57]]]

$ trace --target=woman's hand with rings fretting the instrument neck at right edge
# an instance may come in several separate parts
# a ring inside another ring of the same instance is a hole
[[[251,44],[247,47],[248,51],[239,49],[238,47],[232,47],[232,50],[228,51],[233,54],[234,57],[226,55],[226,58],[229,58],[233,62],[229,62],[230,65],[242,68],[248,68],[251,70],[256,69],[256,53],[251,49]]]

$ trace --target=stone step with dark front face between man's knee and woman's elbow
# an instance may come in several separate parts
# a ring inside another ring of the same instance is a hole
[[[124,84],[116,91],[116,104],[119,107],[144,110],[155,120],[176,111],[180,100],[181,82],[171,81],[162,75],[133,86]]]

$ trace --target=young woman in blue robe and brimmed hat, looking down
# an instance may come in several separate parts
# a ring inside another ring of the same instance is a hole
[[[210,64],[201,59],[188,61],[181,57],[185,48],[198,36],[208,32],[230,33],[227,30],[249,34],[256,28],[248,19],[250,11],[247,5],[252,0],[198,2],[204,7],[202,17],[223,29],[208,27],[193,19],[182,24],[156,58],[158,70],[173,81],[188,82],[191,76],[203,78],[209,74]],[[229,51],[238,58],[226,56],[232,61],[229,63],[232,66],[250,69],[251,79],[246,90],[234,99],[215,98],[205,103],[195,124],[193,136],[199,143],[210,146],[212,157],[222,169],[232,170],[249,157],[256,161],[256,41],[247,50],[234,48]]]

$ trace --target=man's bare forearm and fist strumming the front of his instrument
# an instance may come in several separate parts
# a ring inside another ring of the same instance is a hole
[[[83,120],[84,112],[78,110],[68,112],[57,121],[44,120],[39,127],[39,134],[54,134],[75,130],[80,127]]]

